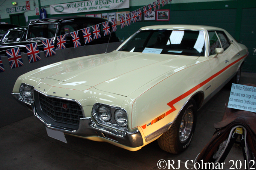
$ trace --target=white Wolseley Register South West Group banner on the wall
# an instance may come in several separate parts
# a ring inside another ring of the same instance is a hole
[[[50,5],[51,15],[64,13],[92,12],[130,7],[130,0],[87,0]]]

